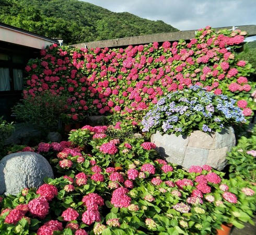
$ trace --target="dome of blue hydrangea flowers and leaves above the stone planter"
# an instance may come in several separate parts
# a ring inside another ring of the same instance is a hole
[[[245,123],[236,100],[215,95],[199,86],[169,93],[142,120],[143,132],[189,134],[194,130],[220,131],[224,125]]]

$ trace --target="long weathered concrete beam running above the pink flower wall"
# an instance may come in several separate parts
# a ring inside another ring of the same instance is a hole
[[[227,26],[222,28],[214,28],[215,31],[221,29],[240,29],[241,31],[246,31],[248,37],[256,35],[256,25],[244,25],[244,26]],[[150,42],[165,42],[165,41],[179,41],[180,39],[190,40],[195,37],[196,30],[185,30],[178,32],[169,32],[169,33],[157,33],[149,34],[143,36],[129,37],[129,38],[119,38],[111,40],[102,40],[96,42],[84,42],[79,44],[74,44],[76,48],[122,48],[128,45],[140,45],[147,44]]]

